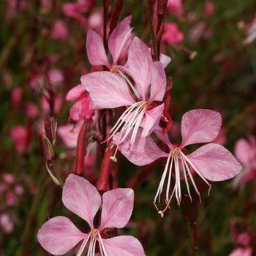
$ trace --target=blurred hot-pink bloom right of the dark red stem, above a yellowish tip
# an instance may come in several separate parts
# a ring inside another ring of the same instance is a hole
[[[179,44],[184,40],[184,34],[178,29],[176,23],[166,23],[162,39],[169,44]]]

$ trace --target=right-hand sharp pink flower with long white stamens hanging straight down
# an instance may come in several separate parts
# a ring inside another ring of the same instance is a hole
[[[209,184],[208,181],[224,181],[228,178],[233,178],[241,170],[241,165],[230,151],[227,151],[226,148],[216,143],[208,143],[217,137],[221,124],[222,118],[216,111],[207,109],[190,110],[182,116],[182,142],[180,146],[170,143],[167,134],[156,131],[159,139],[169,148],[169,153],[162,151],[150,136],[145,138],[138,135],[133,148],[129,148],[127,143],[123,143],[119,147],[121,153],[124,154],[130,162],[138,166],[148,165],[161,157],[167,158],[165,170],[162,173],[162,178],[154,197],[154,205],[157,207],[157,199],[160,203],[163,189],[166,187],[166,206],[163,211],[159,211],[161,216],[163,216],[164,212],[169,207],[174,194],[178,205],[180,205],[181,178],[184,178],[190,200],[192,200],[192,196],[189,189],[189,179],[195,192],[200,197],[200,192],[195,184],[192,170],[197,173],[209,187],[211,187],[211,184]],[[116,135],[113,140],[118,143],[118,135]],[[191,154],[186,154],[184,148],[195,143],[208,144],[197,148],[197,150]],[[170,184],[172,173],[175,176],[175,185],[171,192]]]

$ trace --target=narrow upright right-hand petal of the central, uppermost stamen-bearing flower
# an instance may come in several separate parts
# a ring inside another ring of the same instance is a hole
[[[165,96],[166,75],[165,69],[160,61],[155,61],[152,67],[152,81],[150,100],[162,101]]]

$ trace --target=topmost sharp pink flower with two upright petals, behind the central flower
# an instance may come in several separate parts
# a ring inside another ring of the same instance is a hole
[[[132,40],[132,28],[129,26],[132,16],[128,16],[119,23],[108,38],[108,48],[112,56],[112,63],[108,61],[102,37],[93,30],[89,30],[86,38],[86,50],[91,65],[105,65],[116,71],[121,55],[127,51]]]

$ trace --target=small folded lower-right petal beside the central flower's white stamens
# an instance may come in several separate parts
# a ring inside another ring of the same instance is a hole
[[[143,119],[143,132],[142,136],[146,137],[153,132],[154,129],[158,128],[158,124],[160,121],[160,118],[162,116],[162,111],[165,108],[165,104],[161,104],[155,108],[152,108],[151,110],[147,110],[145,113],[145,118]]]

